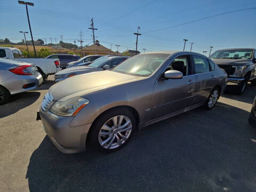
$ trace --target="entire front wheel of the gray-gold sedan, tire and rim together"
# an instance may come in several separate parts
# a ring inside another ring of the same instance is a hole
[[[91,147],[105,152],[118,150],[131,139],[135,126],[135,118],[130,110],[109,110],[103,113],[91,128]]]

